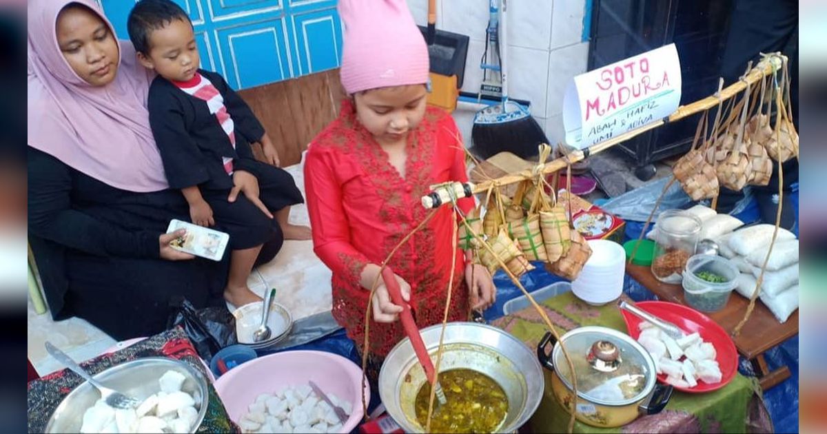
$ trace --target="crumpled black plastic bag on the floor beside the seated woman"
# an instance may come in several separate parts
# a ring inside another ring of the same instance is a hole
[[[212,360],[219,350],[237,343],[236,317],[227,308],[196,309],[189,300],[179,297],[170,302],[170,309],[166,328],[183,327],[203,360]]]

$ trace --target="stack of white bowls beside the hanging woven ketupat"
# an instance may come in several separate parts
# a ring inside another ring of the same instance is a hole
[[[600,306],[623,293],[626,251],[614,241],[591,240],[591,257],[571,282],[571,292],[586,303]]]

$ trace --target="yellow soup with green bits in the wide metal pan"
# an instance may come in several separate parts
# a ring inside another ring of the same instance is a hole
[[[509,413],[503,388],[476,370],[447,370],[439,374],[447,403],[433,399],[431,432],[495,432]],[[423,384],[416,396],[416,415],[426,427],[431,384]]]

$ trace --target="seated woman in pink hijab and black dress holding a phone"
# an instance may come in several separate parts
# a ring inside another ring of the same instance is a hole
[[[227,262],[169,243],[189,207],[166,184],[146,112],[151,73],[93,0],[28,2],[29,238],[55,320],[122,340],[163,331],[170,301],[224,306]],[[256,185],[241,185],[245,197]],[[283,236],[260,260],[270,260]]]

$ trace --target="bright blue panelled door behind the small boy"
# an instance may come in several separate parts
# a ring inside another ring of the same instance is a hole
[[[201,67],[251,88],[339,66],[336,0],[174,0],[193,21]],[[128,39],[131,0],[98,0]]]

